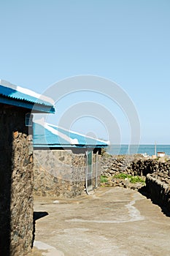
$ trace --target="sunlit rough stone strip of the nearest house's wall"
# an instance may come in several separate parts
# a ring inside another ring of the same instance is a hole
[[[25,255],[33,239],[33,151],[31,135],[14,132],[11,187],[11,255]]]

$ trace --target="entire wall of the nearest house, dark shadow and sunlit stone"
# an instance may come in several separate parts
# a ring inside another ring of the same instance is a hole
[[[33,150],[25,126],[28,110],[0,105],[0,255],[31,250]]]

